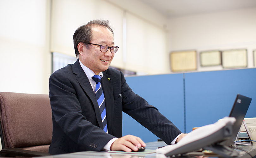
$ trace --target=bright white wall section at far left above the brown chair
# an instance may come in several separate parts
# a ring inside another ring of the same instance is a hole
[[[0,92],[48,93],[49,2],[0,1]]]

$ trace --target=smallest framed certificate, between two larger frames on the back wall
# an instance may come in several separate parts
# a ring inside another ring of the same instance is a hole
[[[201,66],[221,65],[221,52],[218,50],[200,52],[200,65]]]

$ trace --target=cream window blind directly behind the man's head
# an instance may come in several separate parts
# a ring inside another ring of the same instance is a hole
[[[53,0],[51,51],[75,57],[73,34],[76,28],[94,19],[109,20],[115,45],[121,48],[115,54],[112,66],[123,67],[123,10],[104,0]]]

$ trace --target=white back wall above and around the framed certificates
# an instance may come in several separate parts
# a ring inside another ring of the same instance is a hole
[[[221,66],[200,67],[199,52],[247,49],[248,67],[253,67],[256,49],[256,8],[190,15],[168,20],[168,52],[198,51],[198,71],[222,70]]]

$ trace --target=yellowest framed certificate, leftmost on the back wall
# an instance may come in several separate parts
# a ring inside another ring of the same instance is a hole
[[[197,52],[195,50],[171,52],[170,62],[173,72],[197,70]]]

